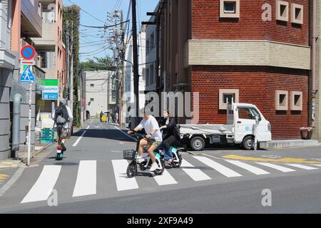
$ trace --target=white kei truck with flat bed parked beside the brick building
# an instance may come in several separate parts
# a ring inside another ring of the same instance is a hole
[[[180,124],[179,128],[181,143],[196,151],[203,150],[206,144],[228,143],[253,150],[255,143],[272,138],[270,122],[255,105],[246,103],[228,103],[226,124]]]

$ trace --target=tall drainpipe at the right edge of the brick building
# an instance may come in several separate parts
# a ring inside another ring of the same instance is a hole
[[[316,21],[317,21],[317,3],[316,0],[311,1],[312,6],[312,16],[311,16],[311,28],[310,28],[310,41],[311,41],[311,79],[310,79],[310,115],[309,115],[309,125],[315,128],[315,98],[316,98],[316,85],[315,85],[315,58],[316,58]]]

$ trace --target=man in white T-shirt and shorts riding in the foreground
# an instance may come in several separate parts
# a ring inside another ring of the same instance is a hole
[[[139,144],[137,162],[141,163],[144,161],[143,147],[149,147],[148,154],[150,155],[153,162],[150,171],[153,172],[158,168],[154,150],[156,150],[156,148],[161,145],[163,138],[156,118],[154,118],[153,115],[150,115],[150,113],[147,112],[145,108],[143,108],[141,114],[143,115],[143,120],[141,120],[141,123],[133,131],[128,131],[128,135],[131,135],[133,134],[133,132],[138,132],[142,129],[146,131],[146,137],[143,138]]]

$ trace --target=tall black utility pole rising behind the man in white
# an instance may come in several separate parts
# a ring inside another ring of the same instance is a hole
[[[138,48],[137,48],[137,22],[136,22],[136,0],[131,1],[132,10],[132,31],[133,31],[133,84],[136,96],[136,123],[139,118],[139,75],[138,75]]]

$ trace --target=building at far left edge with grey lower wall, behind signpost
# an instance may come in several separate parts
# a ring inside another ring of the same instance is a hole
[[[20,49],[26,44],[33,45],[31,38],[41,37],[41,5],[38,0],[2,0],[0,1],[0,160],[15,157],[11,153],[11,120],[12,103],[14,95],[22,95],[20,110],[19,151],[26,151],[26,126],[28,125],[29,85],[19,83],[21,74]],[[37,79],[44,77],[38,66],[33,73]],[[36,85],[32,88],[32,124],[31,124],[31,150],[34,149],[35,126],[35,93]]]

